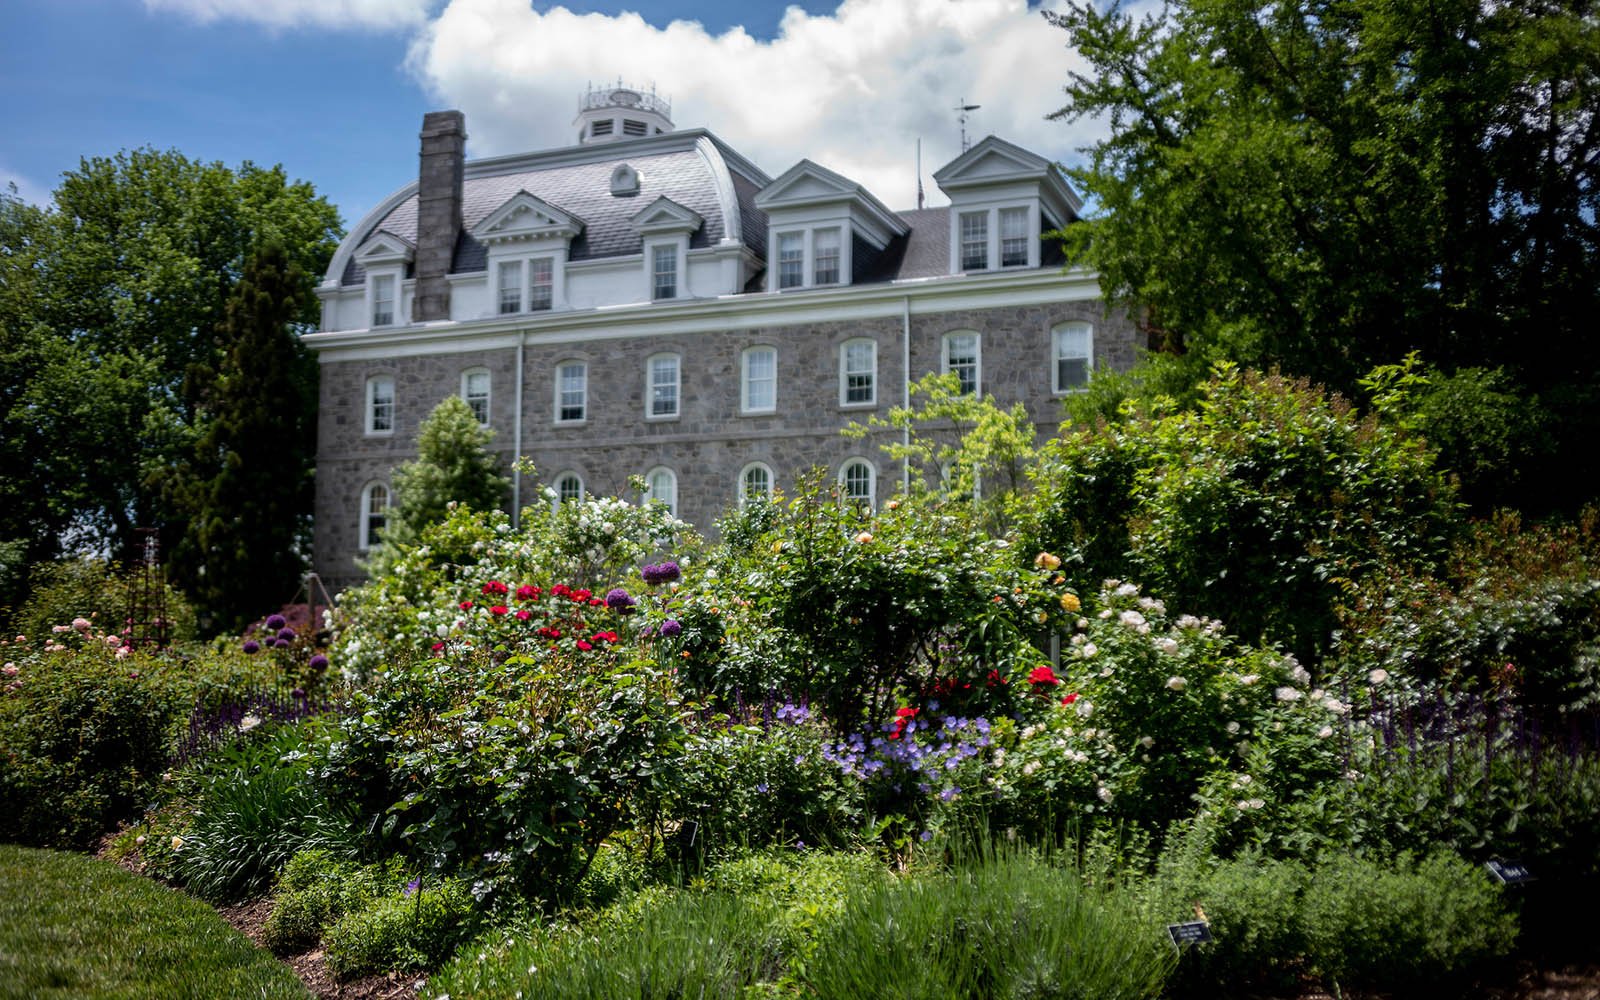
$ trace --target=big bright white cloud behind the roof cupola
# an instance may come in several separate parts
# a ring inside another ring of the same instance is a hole
[[[773,176],[808,157],[910,208],[915,142],[938,203],[931,174],[960,154],[963,99],[982,106],[974,141],[992,133],[1069,160],[1098,138],[1094,123],[1043,118],[1083,69],[1066,43],[1026,0],[845,0],[829,16],[792,6],[770,42],[632,13],[450,0],[413,42],[410,67],[466,112],[475,157],[573,142],[582,86],[622,77],[670,98],[678,128],[710,128]]]

